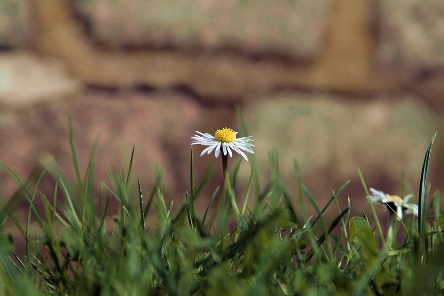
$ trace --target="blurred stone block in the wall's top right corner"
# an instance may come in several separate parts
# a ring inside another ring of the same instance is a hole
[[[444,2],[380,0],[382,64],[413,70],[444,66]]]

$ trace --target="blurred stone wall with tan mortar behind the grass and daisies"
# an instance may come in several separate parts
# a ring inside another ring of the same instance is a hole
[[[429,181],[444,187],[443,48],[442,0],[0,0],[0,159],[26,178],[54,154],[73,176],[71,112],[83,171],[97,136],[100,181],[135,144],[145,190],[158,166],[180,201],[189,137],[238,128],[239,106],[262,180],[276,147],[293,192],[296,158],[321,206],[351,179],[340,199],[360,214],[357,167],[393,194],[404,170],[417,192],[435,131]],[[196,176],[215,163],[221,185],[220,159],[195,148]],[[16,189],[0,172],[1,196]]]

